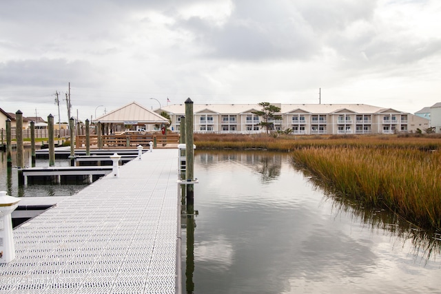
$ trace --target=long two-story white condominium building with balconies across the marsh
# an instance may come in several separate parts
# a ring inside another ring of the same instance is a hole
[[[365,104],[280,104],[281,120],[272,121],[274,129],[292,134],[394,134],[416,132],[429,127],[429,120],[396,109]],[[253,114],[258,104],[194,104],[194,132],[254,134],[266,132],[262,118]],[[185,104],[167,105],[171,129],[178,132]]]

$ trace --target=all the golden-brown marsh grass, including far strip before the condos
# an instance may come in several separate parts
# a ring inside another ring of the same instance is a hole
[[[441,140],[436,136],[194,136],[198,149],[290,151],[338,193],[441,230]]]

